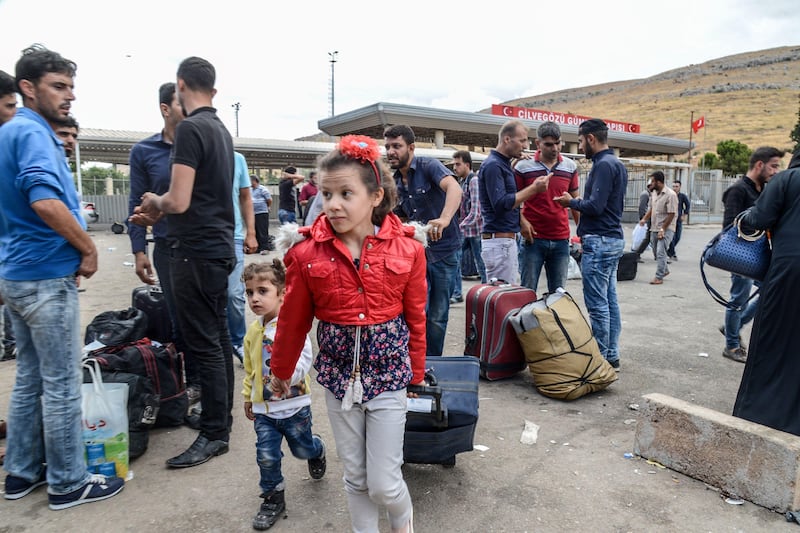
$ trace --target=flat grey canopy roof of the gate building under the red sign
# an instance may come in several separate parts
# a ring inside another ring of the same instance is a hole
[[[488,113],[472,113],[449,109],[410,106],[379,102],[318,122],[319,129],[328,135],[361,134],[380,139],[386,126],[406,124],[414,130],[419,141],[433,142],[435,132],[444,133],[444,142],[450,146],[494,148],[497,134],[509,117]],[[542,123],[523,120],[531,130]],[[578,126],[561,125],[561,135],[566,142],[578,142]],[[669,137],[656,137],[640,133],[609,131],[608,144],[619,149],[621,157],[645,157],[684,154],[689,142]]]

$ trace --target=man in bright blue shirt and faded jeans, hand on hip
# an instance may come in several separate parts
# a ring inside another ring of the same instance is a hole
[[[75,100],[76,68],[41,45],[24,50],[16,65],[24,107],[0,128],[0,296],[17,336],[4,497],[47,484],[54,510],[124,486],[90,474],[83,458],[78,282],[97,271],[97,248],[53,131]]]

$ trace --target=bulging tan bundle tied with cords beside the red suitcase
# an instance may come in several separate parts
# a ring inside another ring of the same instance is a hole
[[[600,354],[592,328],[566,291],[545,294],[510,319],[536,389],[574,400],[605,389],[617,372]]]

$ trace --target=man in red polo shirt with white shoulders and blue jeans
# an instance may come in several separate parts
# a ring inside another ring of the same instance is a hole
[[[561,156],[561,128],[555,122],[539,125],[536,147],[531,159],[522,159],[514,166],[517,188],[524,189],[540,176],[552,177],[547,194],[535,194],[522,204],[520,276],[522,285],[535,291],[544,267],[547,292],[552,293],[567,285],[570,234],[567,211],[553,198],[565,192],[578,196],[578,165]],[[573,209],[572,218],[577,224],[580,213]]]

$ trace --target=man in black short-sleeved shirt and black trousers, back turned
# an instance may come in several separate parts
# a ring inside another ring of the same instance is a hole
[[[200,374],[200,434],[172,468],[199,465],[228,451],[233,423],[233,361],[226,321],[228,275],[235,263],[231,135],[212,107],[216,71],[190,57],[178,67],[178,99],[187,118],[175,132],[169,190],[145,193],[131,221],[167,215],[170,276],[186,356]]]

